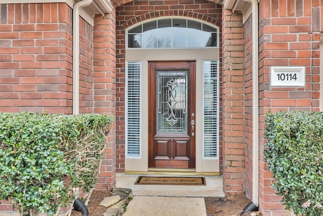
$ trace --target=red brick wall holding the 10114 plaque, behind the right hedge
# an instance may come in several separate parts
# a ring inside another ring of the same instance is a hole
[[[283,215],[263,159],[264,115],[271,109],[318,111],[319,1],[261,0],[259,3],[259,205],[263,215]],[[305,66],[305,88],[271,88],[271,66]]]

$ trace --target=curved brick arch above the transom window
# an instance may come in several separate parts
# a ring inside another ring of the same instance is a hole
[[[151,18],[157,18],[157,17],[166,17],[166,16],[182,16],[182,17],[190,17],[195,18],[199,20],[203,20],[205,22],[208,22],[210,24],[216,25],[218,27],[221,27],[221,21],[207,16],[205,14],[192,12],[192,11],[185,11],[185,10],[169,10],[169,11],[153,11],[146,14],[142,14],[137,17],[133,17],[132,19],[128,20],[127,22],[123,23],[121,26],[124,27],[124,29],[135,25],[139,22],[151,19]]]

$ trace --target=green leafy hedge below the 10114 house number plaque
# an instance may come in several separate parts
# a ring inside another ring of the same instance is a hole
[[[281,202],[295,214],[323,215],[323,114],[269,112],[265,124],[264,156]]]

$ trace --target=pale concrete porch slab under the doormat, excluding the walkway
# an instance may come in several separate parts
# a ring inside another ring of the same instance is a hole
[[[148,176],[148,175],[141,175]],[[156,177],[156,175],[154,175]],[[139,175],[118,173],[117,188],[131,188],[133,196],[163,196],[163,197],[224,197],[223,179],[217,176],[205,176],[205,186],[185,185],[135,185]],[[187,177],[187,176],[186,176]],[[196,176],[193,176],[196,177]]]

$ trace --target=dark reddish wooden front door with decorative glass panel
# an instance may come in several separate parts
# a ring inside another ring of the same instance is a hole
[[[149,62],[149,168],[195,168],[195,62]]]

